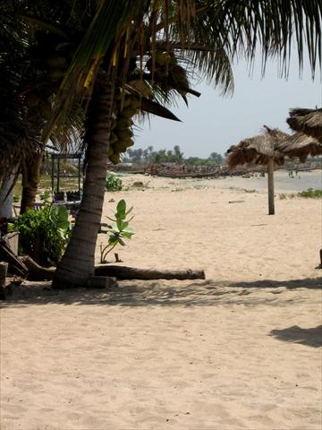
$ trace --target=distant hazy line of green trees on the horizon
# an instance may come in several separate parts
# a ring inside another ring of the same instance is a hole
[[[186,159],[179,145],[174,145],[173,150],[153,150],[153,146],[148,146],[146,150],[142,150],[141,148],[132,150],[129,148],[123,157],[123,162],[133,164],[184,163],[191,166],[205,166],[222,165],[225,162],[225,157],[217,152],[211,152],[207,159],[199,157],[189,157]]]

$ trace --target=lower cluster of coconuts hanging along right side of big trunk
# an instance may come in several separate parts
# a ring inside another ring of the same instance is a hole
[[[116,92],[114,96],[112,121],[112,132],[108,158],[113,164],[121,161],[121,154],[133,146],[132,116],[138,114],[140,99],[131,95],[123,95],[122,91]]]

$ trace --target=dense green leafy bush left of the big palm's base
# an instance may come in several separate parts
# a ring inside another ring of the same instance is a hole
[[[15,219],[11,228],[20,233],[21,254],[30,255],[41,265],[59,262],[71,234],[67,209],[49,203],[39,211],[26,211]]]

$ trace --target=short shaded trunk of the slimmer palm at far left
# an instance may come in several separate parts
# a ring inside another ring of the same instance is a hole
[[[43,155],[44,150],[38,149],[28,160],[28,166],[25,164],[22,167],[22,195],[20,213],[24,213],[27,211],[27,209],[34,209],[35,207]]]

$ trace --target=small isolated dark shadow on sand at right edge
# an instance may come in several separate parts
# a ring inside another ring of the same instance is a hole
[[[309,347],[322,347],[322,325],[311,329],[301,329],[298,325],[293,325],[283,330],[272,330],[271,336],[285,342],[301,343]]]

